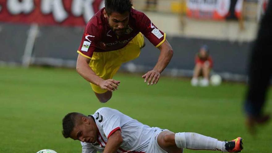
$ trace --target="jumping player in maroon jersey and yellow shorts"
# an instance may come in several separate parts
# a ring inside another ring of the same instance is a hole
[[[94,15],[85,28],[78,49],[77,72],[88,82],[100,102],[107,102],[120,81],[113,75],[121,64],[137,58],[144,47],[143,35],[160,50],[153,70],[142,76],[148,85],[158,83],[170,62],[173,50],[160,31],[130,0],[105,0],[105,8]]]

